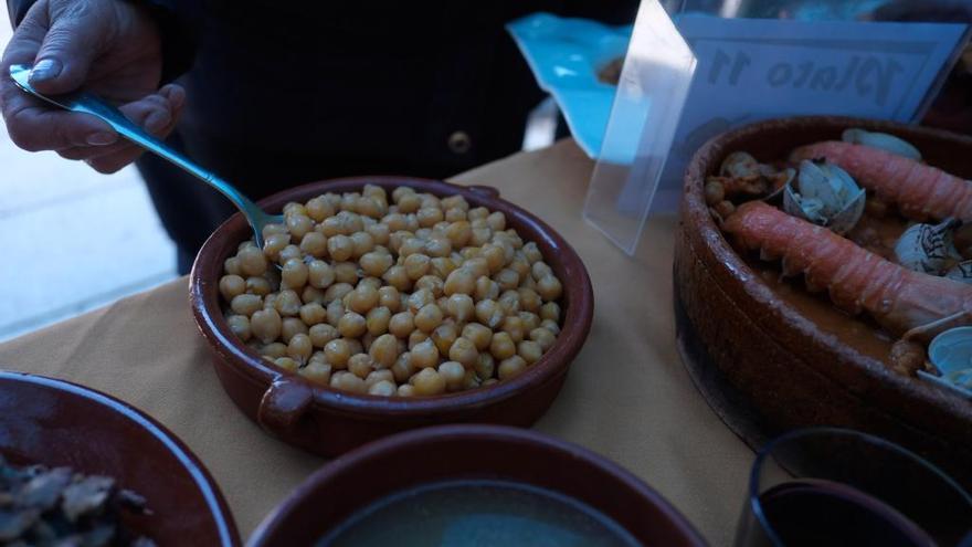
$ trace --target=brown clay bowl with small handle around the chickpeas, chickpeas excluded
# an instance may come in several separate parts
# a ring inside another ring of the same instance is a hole
[[[270,365],[230,332],[220,307],[218,282],[223,261],[252,235],[241,214],[233,215],[202,246],[190,275],[196,323],[212,350],[223,388],[251,419],[279,439],[323,455],[340,454],[399,431],[448,422],[489,422],[527,427],[550,406],[568,367],[580,351],[594,307],[591,281],[571,246],[550,227],[488,187],[462,187],[437,180],[368,177],[325,180],[274,194],[261,202],[279,211],[288,201],[325,192],[359,191],[366,183],[391,191],[410,186],[436,196],[462,194],[473,207],[506,214],[507,227],[533,241],[563,284],[562,330],[557,343],[526,372],[494,386],[427,398],[382,398],[320,387]]]

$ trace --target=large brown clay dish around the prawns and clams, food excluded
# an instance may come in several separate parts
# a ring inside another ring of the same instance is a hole
[[[709,140],[686,171],[675,241],[679,351],[714,410],[751,446],[793,428],[852,428],[920,453],[968,486],[972,401],[892,372],[879,345],[875,350],[875,344],[855,344],[847,332],[867,330],[866,319],[823,306],[823,314],[810,314],[799,301],[781,298],[784,285],[760,270],[772,263],[737,254],[705,203],[705,178],[730,152],[744,150],[764,162],[784,159],[800,145],[839,140],[848,127],[897,135],[928,164],[972,178],[972,139],[889,122],[785,118]]]

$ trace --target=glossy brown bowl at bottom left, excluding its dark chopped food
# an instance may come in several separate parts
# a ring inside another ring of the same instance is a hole
[[[152,515],[127,526],[156,544],[240,545],[226,503],[202,463],[158,422],[98,391],[0,371],[0,454],[11,463],[67,465],[115,477]]]

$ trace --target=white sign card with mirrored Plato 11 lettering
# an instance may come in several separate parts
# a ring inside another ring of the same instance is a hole
[[[693,154],[732,127],[794,115],[916,120],[968,39],[968,25],[955,23],[689,15],[680,18],[677,27],[698,63],[688,98],[664,169],[636,177],[644,156],[638,146],[631,176],[615,201],[619,215],[641,215],[640,197],[646,188],[654,194],[652,211],[677,210],[683,173]],[[611,139],[612,122],[605,141]],[[655,130],[646,125],[641,141]],[[633,254],[636,236],[632,241],[628,234],[627,241],[621,246]]]

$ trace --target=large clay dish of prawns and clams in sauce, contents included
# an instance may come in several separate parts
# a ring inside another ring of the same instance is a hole
[[[938,129],[802,117],[696,154],[677,337],[737,433],[854,428],[972,482],[970,151]]]

